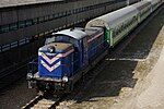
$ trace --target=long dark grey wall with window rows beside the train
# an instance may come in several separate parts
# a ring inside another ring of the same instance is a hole
[[[0,31],[0,45],[70,26],[125,7],[126,3],[126,0],[78,0],[0,9],[0,29],[3,28]],[[55,19],[56,15],[60,17]]]

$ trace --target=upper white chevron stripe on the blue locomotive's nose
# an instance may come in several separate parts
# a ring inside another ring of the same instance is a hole
[[[59,53],[56,57],[54,57],[52,59],[49,59],[44,52],[38,52],[38,56],[42,56],[49,64],[54,63],[55,61],[57,61],[58,59],[60,59],[61,57],[67,57],[68,55],[70,55],[71,52],[73,52],[74,50],[71,49],[70,51],[66,52],[66,53]]]

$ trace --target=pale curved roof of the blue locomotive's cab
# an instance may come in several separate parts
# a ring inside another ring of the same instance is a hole
[[[83,28],[79,27],[79,28],[63,29],[57,33],[52,33],[52,35],[66,35],[80,40],[81,38],[86,36],[86,33],[83,31]]]

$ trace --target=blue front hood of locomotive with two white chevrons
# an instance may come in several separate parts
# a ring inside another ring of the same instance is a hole
[[[38,50],[38,74],[42,77],[62,78],[71,72],[73,46],[66,43],[51,43]]]

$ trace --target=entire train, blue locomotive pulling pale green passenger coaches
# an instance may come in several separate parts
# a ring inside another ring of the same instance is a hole
[[[91,20],[85,28],[52,33],[38,49],[37,73],[28,73],[30,87],[40,92],[69,93],[134,27],[161,4],[143,0]]]

